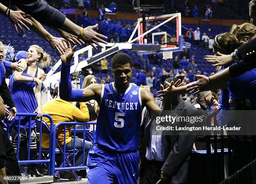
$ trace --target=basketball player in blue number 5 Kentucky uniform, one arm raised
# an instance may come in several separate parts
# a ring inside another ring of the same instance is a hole
[[[132,58],[125,53],[111,61],[114,82],[95,84],[72,90],[70,62],[76,46],[64,43],[61,55],[60,97],[66,101],[90,101],[100,104],[96,128],[96,144],[88,154],[88,184],[136,184],[139,153],[137,151],[141,111],[161,110],[150,91],[130,83]]]

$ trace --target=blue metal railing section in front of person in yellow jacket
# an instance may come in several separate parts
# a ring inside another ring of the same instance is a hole
[[[64,171],[64,170],[79,170],[79,169],[86,169],[87,166],[84,165],[84,152],[85,152],[85,131],[89,131],[89,129],[86,129],[86,125],[96,125],[95,121],[89,121],[89,122],[60,122],[58,124],[56,124],[54,126],[54,129],[52,131],[51,134],[51,175],[54,175],[55,171]],[[74,133],[74,144],[73,144],[73,163],[66,163],[67,162],[67,156],[66,156],[66,129],[67,126],[72,126],[74,125],[74,129],[73,129],[73,133]],[[77,125],[82,125],[83,129],[77,129]],[[56,140],[56,131],[58,129],[59,126],[64,126],[64,145],[63,145],[63,149],[60,149],[61,154],[63,155],[63,162],[62,162],[62,167],[56,167],[55,166],[55,144],[57,144],[59,146],[59,148],[61,147],[61,145],[58,143],[58,141]],[[83,157],[82,157],[82,166],[74,166],[75,165],[75,154],[76,154],[76,147],[75,147],[75,142],[76,142],[76,133],[77,132],[82,132],[83,133]],[[94,136],[95,136],[95,126],[93,126],[93,131],[92,131],[93,137],[92,137],[92,143],[94,144]],[[67,164],[67,166],[66,166]]]

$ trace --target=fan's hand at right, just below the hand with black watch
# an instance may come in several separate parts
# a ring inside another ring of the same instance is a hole
[[[210,86],[209,77],[203,75],[195,75],[198,80],[187,85],[189,93],[200,93]]]

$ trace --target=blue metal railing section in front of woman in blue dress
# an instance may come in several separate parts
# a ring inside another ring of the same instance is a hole
[[[20,149],[20,117],[21,116],[27,116],[29,117],[29,127],[28,127],[28,135],[27,137],[31,137],[31,121],[32,121],[32,117],[37,116],[37,113],[17,113],[16,116],[18,117],[18,136],[17,136],[17,151],[16,151],[16,155],[17,155],[17,159],[18,159],[18,164],[47,164],[48,163],[48,172],[50,172],[50,163],[51,163],[51,150],[49,150],[49,159],[41,159],[41,136],[42,136],[42,118],[40,119],[40,127],[39,127],[39,148],[37,148],[38,151],[38,160],[31,160],[30,159],[30,144],[31,144],[31,139],[28,139],[28,159],[27,160],[19,160],[19,149]],[[49,116],[48,114],[43,114],[44,117],[48,118],[50,121],[50,127],[48,126],[49,129],[49,133],[51,134],[52,130],[54,129],[54,124],[53,124],[53,120],[51,118],[51,116]],[[39,120],[38,120],[39,121]],[[7,123],[7,134],[8,134],[8,138],[10,138],[9,136],[9,124]],[[50,146],[51,146],[51,136],[50,136]]]

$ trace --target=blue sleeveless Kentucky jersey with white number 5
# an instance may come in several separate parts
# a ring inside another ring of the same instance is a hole
[[[138,148],[141,125],[141,90],[130,83],[124,94],[118,94],[114,83],[102,88],[97,119],[96,143],[114,151]]]

